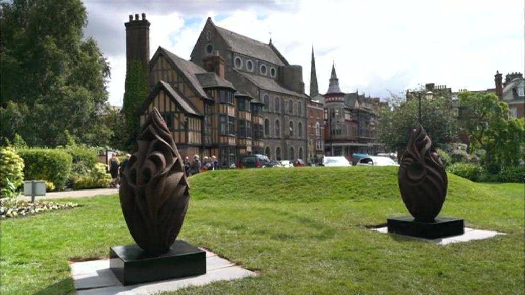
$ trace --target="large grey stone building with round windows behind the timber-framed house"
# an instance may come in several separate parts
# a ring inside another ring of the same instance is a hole
[[[290,65],[271,43],[216,26],[208,18],[191,53],[191,61],[211,55],[225,60],[225,78],[262,103],[262,146],[253,150],[271,160],[306,160],[307,106],[302,67]]]

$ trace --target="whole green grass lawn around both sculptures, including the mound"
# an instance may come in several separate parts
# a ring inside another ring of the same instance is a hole
[[[523,294],[523,184],[449,175],[440,216],[506,235],[447,246],[376,233],[407,215],[390,167],[213,171],[190,178],[180,238],[260,273],[182,294]],[[1,293],[74,293],[68,260],[131,244],[117,195],[0,224]]]

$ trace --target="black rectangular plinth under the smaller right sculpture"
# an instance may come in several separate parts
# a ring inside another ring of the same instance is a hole
[[[436,217],[434,222],[417,222],[412,216],[388,218],[388,233],[413,236],[425,239],[438,239],[463,235],[463,219]]]

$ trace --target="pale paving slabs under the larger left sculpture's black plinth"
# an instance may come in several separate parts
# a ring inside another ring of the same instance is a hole
[[[206,285],[213,281],[234,280],[256,275],[255,272],[236,266],[232,261],[210,251],[206,251],[206,273],[194,277],[122,286],[109,269],[109,259],[72,263],[71,273],[79,295],[155,294],[188,286]]]

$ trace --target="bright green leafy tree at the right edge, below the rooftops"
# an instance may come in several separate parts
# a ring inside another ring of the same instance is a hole
[[[485,165],[491,172],[517,165],[523,157],[525,120],[509,118],[509,108],[495,94],[459,93],[461,125],[472,149],[485,150]]]

